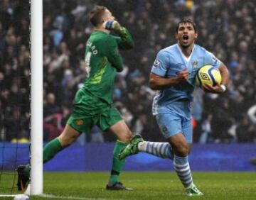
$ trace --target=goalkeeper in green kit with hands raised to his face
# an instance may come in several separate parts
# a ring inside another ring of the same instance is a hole
[[[63,133],[43,148],[43,163],[74,143],[81,133],[89,133],[91,128],[97,125],[102,130],[109,130],[117,135],[110,181],[106,189],[130,190],[119,182],[124,160],[119,160],[118,155],[129,143],[132,133],[113,105],[112,91],[115,74],[123,70],[119,49],[131,49],[134,42],[128,30],[121,27],[104,6],[95,6],[92,9],[90,21],[95,30],[87,40],[85,49],[88,76],[84,87],[75,94],[73,113]],[[110,30],[119,36],[110,35]],[[18,189],[24,190],[29,182],[30,165],[19,166],[17,172]]]

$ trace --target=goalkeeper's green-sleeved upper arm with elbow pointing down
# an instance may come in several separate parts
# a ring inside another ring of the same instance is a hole
[[[110,36],[106,41],[107,48],[105,50],[105,55],[107,56],[107,60],[111,63],[112,67],[117,69],[117,72],[122,72],[124,69],[122,56],[119,53],[117,41]]]

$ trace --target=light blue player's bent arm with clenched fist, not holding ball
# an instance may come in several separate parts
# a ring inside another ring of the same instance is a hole
[[[168,53],[160,51],[151,69],[149,75],[149,87],[154,90],[166,89],[168,87],[186,82],[188,79],[188,70],[183,70],[177,74],[176,77],[166,78],[166,72],[169,68]]]

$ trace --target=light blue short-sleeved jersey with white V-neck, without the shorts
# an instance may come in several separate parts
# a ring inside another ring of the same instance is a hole
[[[196,73],[204,65],[220,67],[218,60],[211,52],[199,45],[194,45],[190,57],[185,57],[178,44],[160,50],[154,61],[151,72],[160,77],[176,77],[178,72],[188,69],[188,80],[182,84],[156,92],[153,103],[153,114],[158,113],[159,106],[171,104],[178,99],[193,101],[192,93],[196,87]]]

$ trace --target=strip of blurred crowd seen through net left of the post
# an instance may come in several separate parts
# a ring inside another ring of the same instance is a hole
[[[0,140],[29,138],[29,2],[0,1]]]

